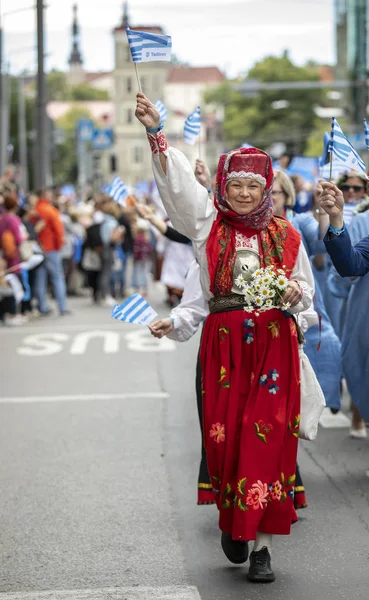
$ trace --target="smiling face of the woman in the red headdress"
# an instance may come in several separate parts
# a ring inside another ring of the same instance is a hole
[[[227,183],[226,201],[238,215],[248,215],[260,205],[263,191],[263,186],[255,179],[231,179]]]

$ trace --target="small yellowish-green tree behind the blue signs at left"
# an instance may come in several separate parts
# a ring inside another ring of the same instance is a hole
[[[77,181],[77,123],[86,118],[91,118],[88,110],[72,107],[55,123],[64,133],[64,142],[57,145],[52,166],[56,185]]]

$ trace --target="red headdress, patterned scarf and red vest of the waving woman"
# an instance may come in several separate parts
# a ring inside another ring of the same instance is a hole
[[[238,215],[226,202],[227,183],[235,177],[255,179],[264,187],[261,203],[247,215]],[[272,161],[262,150],[239,148],[221,155],[214,198],[218,216],[207,243],[210,290],[214,295],[231,294],[236,261],[236,230],[249,237],[257,233],[261,265],[284,267],[290,275],[296,262],[301,237],[286,219],[273,216],[272,183]]]

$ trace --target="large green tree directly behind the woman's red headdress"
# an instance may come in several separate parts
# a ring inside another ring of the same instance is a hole
[[[268,56],[257,62],[245,80],[260,82],[317,81],[315,68],[298,67],[288,54]],[[267,90],[246,97],[235,90],[243,80],[224,82],[209,91],[205,100],[224,106],[224,135],[230,147],[245,142],[262,148],[274,142],[285,142],[287,150],[303,152],[314,129],[314,106],[322,100],[319,89]]]

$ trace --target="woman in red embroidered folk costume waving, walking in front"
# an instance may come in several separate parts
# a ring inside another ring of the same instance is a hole
[[[293,487],[300,415],[298,338],[291,312],[308,308],[314,281],[301,236],[273,216],[270,157],[241,148],[219,160],[214,202],[185,156],[169,148],[154,105],[137,96],[153,172],[174,227],[192,239],[210,315],[200,350],[209,473],[217,495],[222,547],[231,562],[250,555],[249,579],[274,581],[272,535],[297,520]],[[239,275],[284,269],[283,302],[246,313]]]

